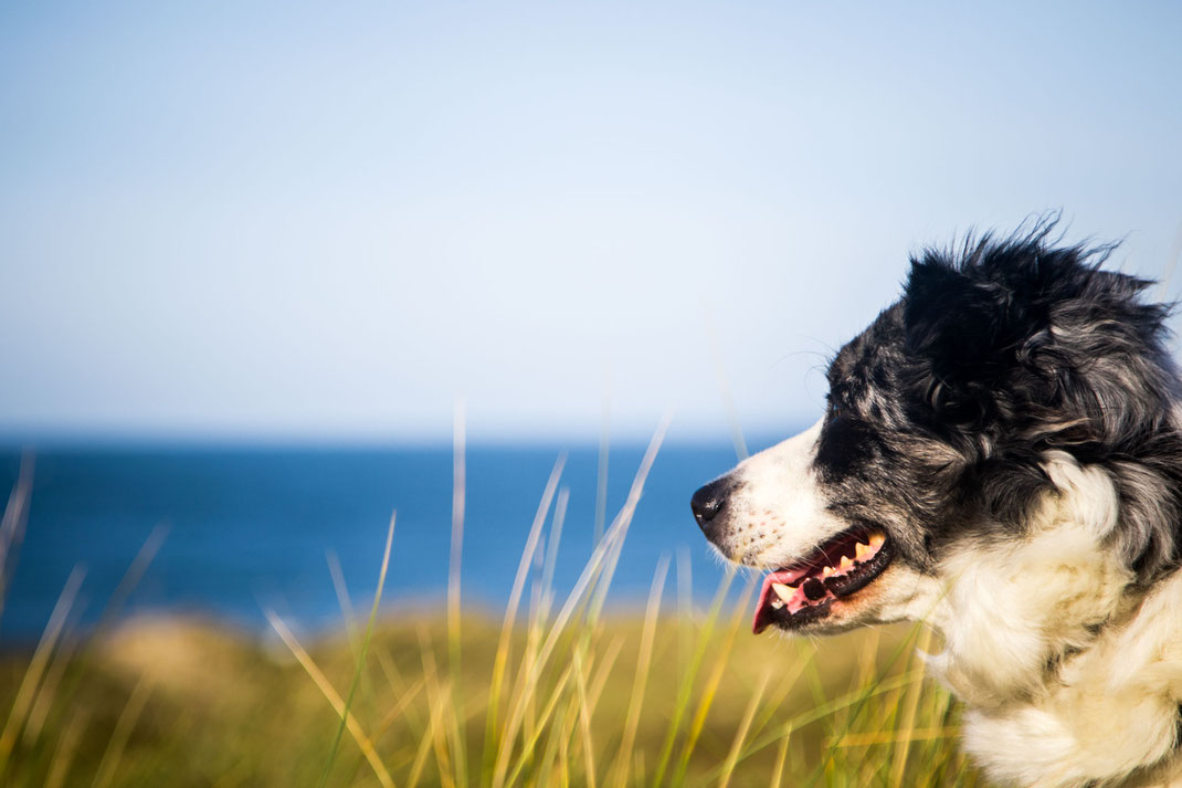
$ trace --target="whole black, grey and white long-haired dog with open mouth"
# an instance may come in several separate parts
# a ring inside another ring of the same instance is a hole
[[[1182,786],[1182,382],[1168,308],[1053,220],[911,260],[812,428],[699,490],[754,629],[926,620],[1021,786]]]

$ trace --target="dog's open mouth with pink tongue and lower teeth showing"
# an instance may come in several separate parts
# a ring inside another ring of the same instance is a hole
[[[865,588],[891,557],[894,549],[881,529],[838,534],[807,558],[764,577],[752,631],[759,634],[772,624],[787,629],[824,619],[833,600]]]

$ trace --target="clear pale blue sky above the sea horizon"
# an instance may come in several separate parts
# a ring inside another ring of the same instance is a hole
[[[786,431],[923,244],[1161,276],[1182,5],[898,6],[4,4],[0,434]]]

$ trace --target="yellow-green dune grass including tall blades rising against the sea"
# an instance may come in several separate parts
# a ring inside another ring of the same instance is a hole
[[[344,626],[309,642],[272,612],[271,639],[180,618],[112,627],[113,613],[73,637],[72,579],[40,645],[0,660],[0,784],[978,784],[949,696],[923,679],[916,627],[753,638],[753,584],[730,579],[702,609],[683,560],[658,567],[643,611],[605,605],[662,434],[561,599],[556,464],[499,620],[460,607],[455,570],[444,611],[382,615],[392,519],[369,618],[335,569]],[[0,545],[20,527],[21,484]],[[462,484],[455,496],[457,551]],[[0,551],[0,571],[11,563]]]

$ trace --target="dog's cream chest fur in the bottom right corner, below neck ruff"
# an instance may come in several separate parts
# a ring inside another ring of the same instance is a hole
[[[946,665],[968,704],[966,749],[994,779],[1018,786],[1182,784],[1180,599],[1182,582],[1162,583],[1136,609],[1117,613],[1121,625],[1008,697],[998,685],[981,692]]]

